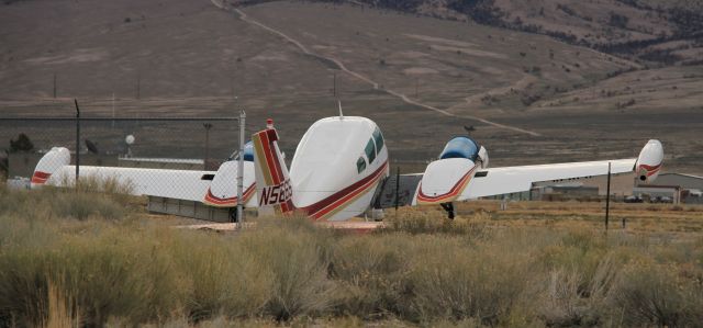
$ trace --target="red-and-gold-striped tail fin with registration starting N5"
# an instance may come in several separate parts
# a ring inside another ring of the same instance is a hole
[[[252,135],[258,212],[259,215],[292,213],[295,210],[293,190],[278,148],[278,133],[272,120],[266,123],[266,129]]]

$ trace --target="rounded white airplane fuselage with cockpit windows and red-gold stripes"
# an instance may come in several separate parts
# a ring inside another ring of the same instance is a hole
[[[369,208],[388,173],[388,148],[373,121],[322,118],[305,132],[291,162],[293,205],[313,219],[348,219]]]

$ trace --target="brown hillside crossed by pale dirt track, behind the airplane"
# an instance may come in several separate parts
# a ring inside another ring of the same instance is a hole
[[[635,156],[656,137],[668,169],[701,172],[691,155],[703,149],[693,137],[703,128],[701,66],[648,69],[547,35],[368,5],[214,3],[222,8],[4,5],[3,114],[72,115],[79,98],[87,115],[110,115],[114,94],[123,116],[232,115],[236,95],[248,129],[276,118],[292,154],[310,124],[337,113],[339,99],[345,114],[381,126],[393,159],[432,158],[466,125],[495,166]],[[0,137],[27,128],[3,126]],[[182,136],[171,136],[166,143],[178,148]],[[224,156],[233,148],[226,138],[213,143]]]

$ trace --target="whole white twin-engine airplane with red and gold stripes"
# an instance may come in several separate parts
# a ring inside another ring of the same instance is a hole
[[[326,117],[303,135],[290,171],[278,146],[272,121],[252,136],[243,154],[245,207],[259,215],[302,213],[314,220],[345,220],[383,207],[378,191],[389,177],[388,148],[376,123],[366,117]],[[663,159],[658,140],[649,140],[637,158],[489,168],[488,151],[469,137],[449,140],[424,173],[408,174],[400,205],[442,205],[454,217],[454,202],[529,191],[534,183],[607,174],[634,173],[640,183],[654,181]],[[37,163],[32,186],[65,185],[75,180],[68,149],[55,147]],[[237,161],[217,171],[80,167],[81,177],[115,178],[136,195],[202,202],[217,207],[237,204]]]

